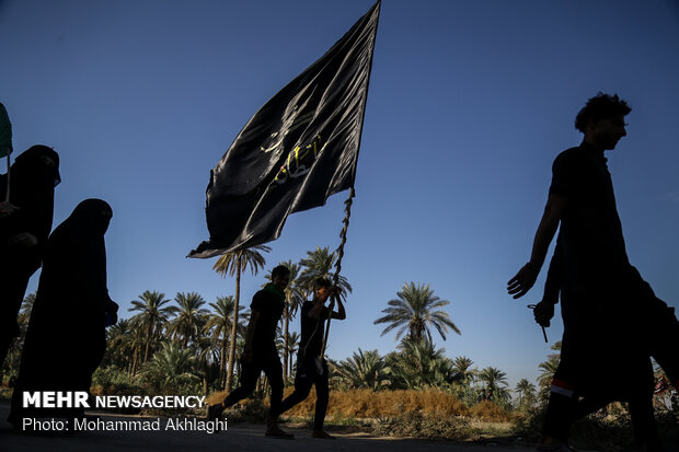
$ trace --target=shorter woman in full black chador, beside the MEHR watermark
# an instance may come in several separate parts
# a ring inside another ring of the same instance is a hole
[[[76,207],[49,236],[31,313],[10,421],[81,417],[82,408],[24,408],[23,392],[89,391],[118,305],[106,289],[104,234],[113,217],[101,199]]]

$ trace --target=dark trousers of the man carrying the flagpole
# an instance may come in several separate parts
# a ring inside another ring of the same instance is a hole
[[[286,397],[280,404],[280,413],[285,413],[309,396],[311,386],[315,385],[315,416],[313,429],[323,430],[325,412],[330,399],[330,385],[327,378],[327,364],[323,360],[323,373],[317,370],[315,359],[298,359],[297,375],[295,376],[295,392]]]

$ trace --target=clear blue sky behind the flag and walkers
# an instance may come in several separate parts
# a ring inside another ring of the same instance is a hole
[[[84,198],[113,206],[108,288],[123,316],[145,290],[233,293],[214,259],[184,257],[207,239],[209,171],[371,4],[0,0],[14,148],[59,152],[55,227]],[[344,260],[354,294],[330,357],[393,350],[373,320],[404,282],[428,282],[462,331],[436,338],[448,356],[511,385],[534,379],[550,350],[526,304],[543,275],[519,302],[505,285],[529,257],[551,163],[579,143],[573,119],[598,91],[633,107],[608,154],[630,258],[679,306],[679,3],[384,0]],[[345,198],[291,216],[267,270],[335,248]],[[263,278],[244,277],[248,304]]]

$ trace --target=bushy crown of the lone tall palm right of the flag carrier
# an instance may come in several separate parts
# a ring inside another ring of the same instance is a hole
[[[460,329],[450,321],[448,313],[439,309],[450,304],[450,302],[436,297],[434,291],[429,289],[429,285],[405,283],[396,297],[399,298],[389,301],[390,308],[382,310],[385,315],[373,322],[375,325],[378,323],[389,324],[382,332],[382,336],[399,328],[395,340],[407,331],[407,336],[415,341],[422,340],[425,334],[431,341],[429,329],[431,326],[438,331],[444,340],[446,340],[448,328],[460,334]]]

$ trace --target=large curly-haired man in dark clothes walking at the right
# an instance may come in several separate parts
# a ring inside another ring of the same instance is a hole
[[[564,335],[538,450],[568,450],[573,422],[612,401],[630,402],[636,439],[646,450],[659,447],[647,346],[654,309],[649,288],[628,259],[603,157],[626,135],[630,112],[618,95],[599,93],[578,113],[575,126],[585,135],[583,143],[554,160],[530,262],[508,282],[514,298],[528,292],[561,224],[545,299],[553,309],[561,292]],[[543,309],[537,308],[536,315]]]

